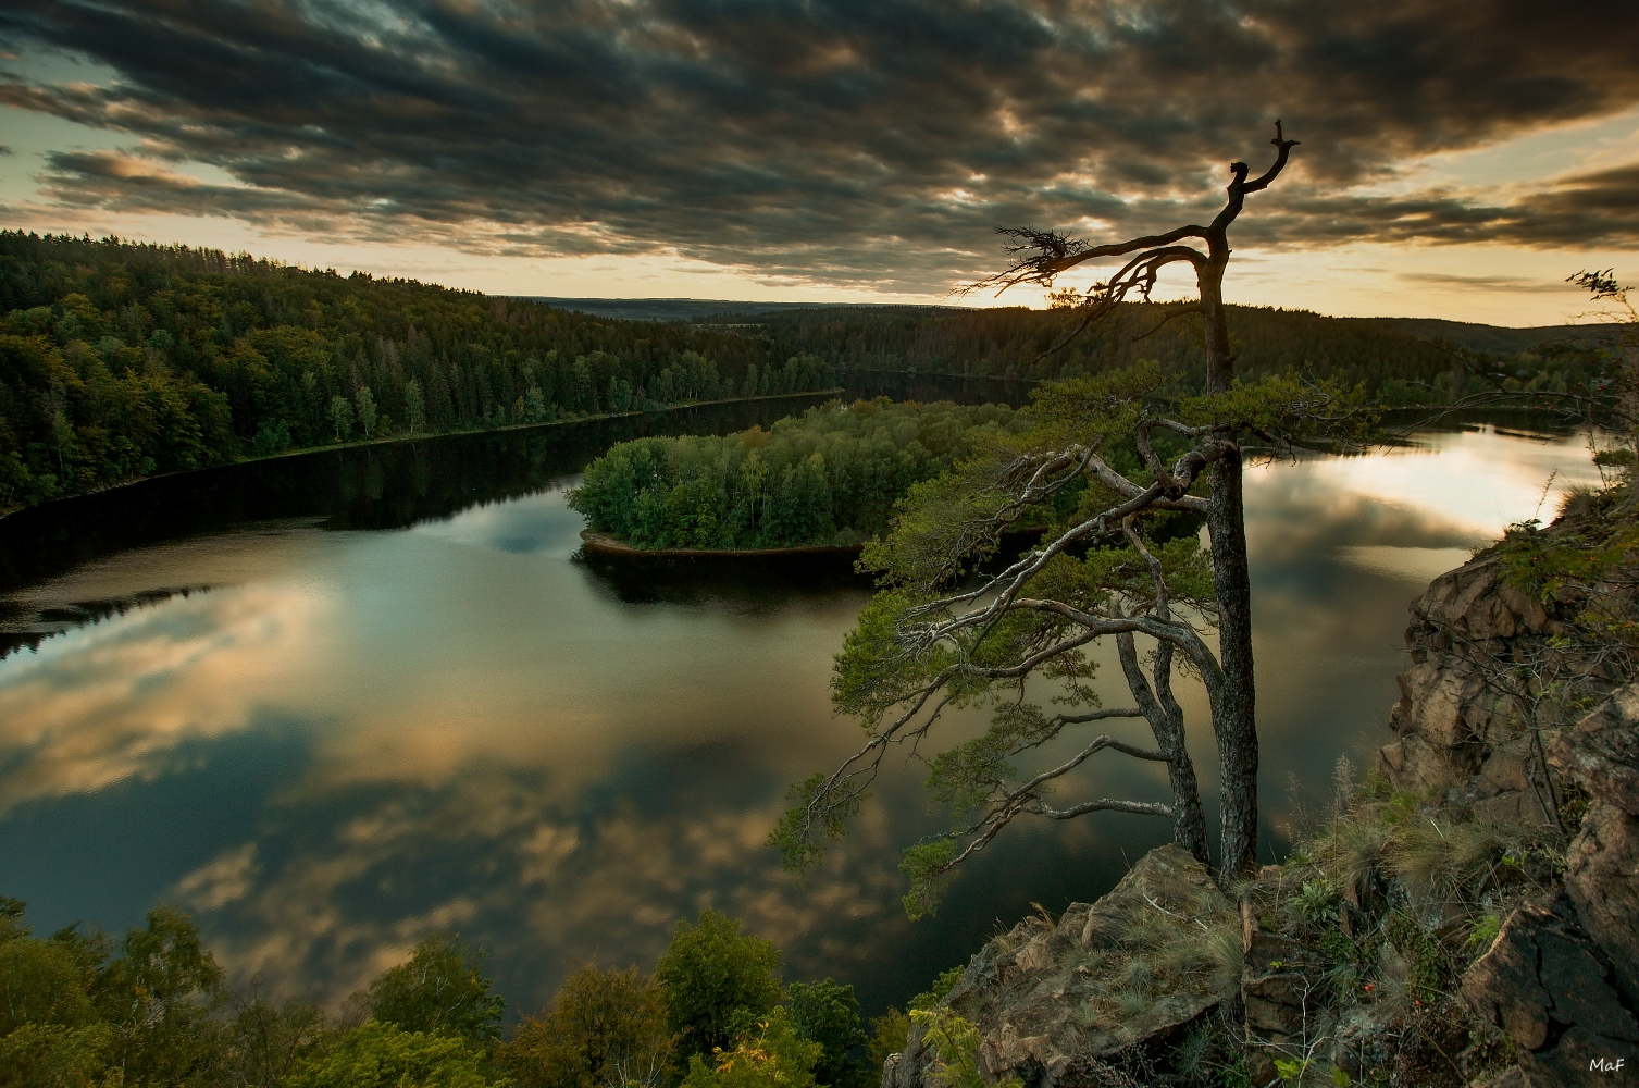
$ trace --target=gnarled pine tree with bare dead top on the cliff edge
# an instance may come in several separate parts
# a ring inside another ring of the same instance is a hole
[[[1216,872],[1228,880],[1254,864],[1257,729],[1241,439],[1257,434],[1285,447],[1300,433],[1360,421],[1355,393],[1296,377],[1234,383],[1223,306],[1228,229],[1247,193],[1269,187],[1296,146],[1278,123],[1272,143],[1275,161],[1257,179],[1247,179],[1244,162],[1231,164],[1228,200],[1208,226],[1106,246],[1003,231],[1016,241],[1016,259],[975,290],[1052,287],[1054,277],[1087,261],[1128,257],[1080,300],[1077,329],[1134,292],[1147,298],[1160,269],[1190,264],[1200,298],[1188,310],[1205,326],[1206,388],[1178,390],[1155,365],[1044,387],[1029,434],[997,441],[911,492],[892,533],[867,547],[864,564],[885,588],[849,634],[833,678],[838,709],[862,721],[867,741],[834,772],[793,787],[795,806],[774,832],[790,868],[816,864],[846,832],[892,746],[910,744],[916,754],[949,711],[974,706],[992,713],[983,736],[918,755],[952,827],[906,852],[913,916],[936,904],[957,864],[1024,814],[1162,816],[1211,867],[1175,667],[1201,680],[1211,706],[1221,783]],[[1188,239],[1205,251],[1183,244]],[[1200,519],[1208,549],[1195,533]],[[987,570],[1003,534],[1028,524],[1046,528],[1042,544]],[[1151,654],[1141,652],[1137,636],[1154,641]],[[1087,649],[1105,637],[1115,641],[1129,708],[1100,706],[1090,687]],[[1042,690],[1051,708],[1031,698]],[[1024,773],[1015,765],[1067,729],[1121,718],[1142,718],[1154,747],[1101,734],[1046,768]],[[1164,765],[1170,800],[1057,803],[1056,788],[1105,750]]]

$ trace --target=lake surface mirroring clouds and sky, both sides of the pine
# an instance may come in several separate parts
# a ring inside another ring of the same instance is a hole
[[[1578,441],[1483,431],[1249,472],[1275,824],[1288,773],[1319,796],[1339,752],[1380,742],[1406,601],[1508,521],[1549,516],[1555,470],[1555,488],[1593,478]],[[677,916],[715,904],[780,942],[788,977],[856,980],[880,1006],[993,919],[1096,895],[1164,837],[1134,818],[1019,829],[910,926],[895,865],[928,824],[901,768],[793,886],[762,841],[785,787],[859,741],[828,680],[864,592],[633,603],[570,559],[579,528],[544,490],[408,531],[256,526],[39,587],[220,588],[0,660],[0,893],[41,927],[123,927],[175,900],[236,977],[331,996],[454,926],[526,1008],[588,957],[652,965]],[[1208,762],[1198,698],[1192,716]],[[1119,764],[1093,775],[1154,788]]]

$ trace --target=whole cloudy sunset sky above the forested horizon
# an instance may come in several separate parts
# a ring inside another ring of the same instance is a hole
[[[8,0],[0,226],[941,303],[998,226],[1210,220],[1280,118],[1231,301],[1557,324],[1569,274],[1639,280],[1636,57],[1631,0]]]

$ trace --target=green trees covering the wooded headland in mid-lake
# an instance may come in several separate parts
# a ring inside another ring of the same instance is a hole
[[[1001,405],[831,401],[769,431],[620,442],[569,503],[636,547],[852,546],[913,483],[1023,428]]]

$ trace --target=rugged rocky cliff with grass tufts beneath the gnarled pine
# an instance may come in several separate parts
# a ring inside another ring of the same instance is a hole
[[[1613,1085],[1639,1075],[1639,685],[1495,554],[1411,605],[1377,773],[1226,896],[1178,847],[1029,918],[944,998],[985,1080]],[[1575,696],[1575,698],[1572,698]],[[1575,700],[1595,709],[1564,726]],[[934,1088],[913,1026],[883,1088]]]

